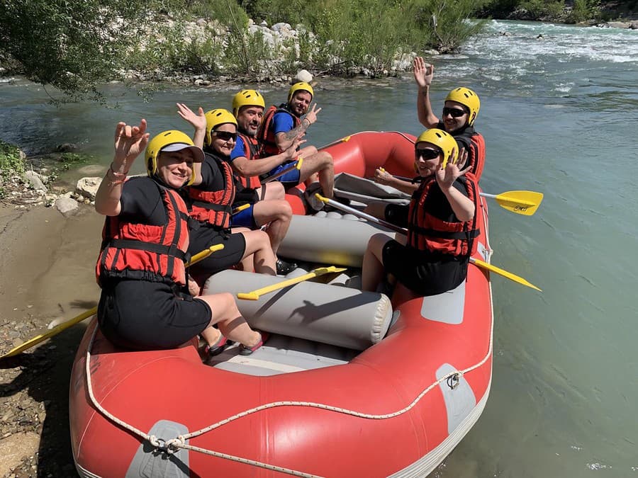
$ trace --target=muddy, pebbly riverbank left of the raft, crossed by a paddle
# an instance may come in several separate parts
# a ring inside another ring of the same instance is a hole
[[[71,319],[99,297],[93,264],[103,218],[42,205],[0,207],[0,351]],[[0,362],[0,477],[73,476],[68,384],[86,324]]]

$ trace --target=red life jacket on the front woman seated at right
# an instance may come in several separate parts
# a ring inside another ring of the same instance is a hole
[[[478,236],[476,215],[478,213],[478,186],[471,173],[457,179],[464,183],[468,197],[476,208],[470,221],[447,222],[430,213],[427,200],[432,188],[439,188],[437,180],[426,178],[415,191],[408,210],[408,246],[433,254],[448,254],[469,257],[476,251],[474,238]]]

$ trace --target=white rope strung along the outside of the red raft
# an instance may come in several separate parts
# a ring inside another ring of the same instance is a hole
[[[491,292],[490,292],[491,295]],[[136,435],[140,436],[141,438],[149,441],[153,446],[155,446],[156,448],[160,449],[160,450],[164,450],[166,453],[175,453],[177,450],[179,449],[184,449],[184,450],[192,450],[198,453],[204,453],[206,455],[211,455],[214,457],[218,457],[218,458],[223,458],[225,460],[230,460],[230,461],[234,461],[234,462],[239,462],[239,463],[243,463],[245,465],[252,465],[254,467],[259,467],[259,468],[264,468],[266,470],[273,470],[276,472],[281,472],[281,473],[285,473],[285,474],[290,474],[292,476],[296,476],[296,477],[303,477],[303,478],[320,478],[318,477],[318,475],[315,474],[309,474],[309,473],[305,473],[305,472],[300,472],[297,470],[290,470],[289,468],[284,468],[284,467],[278,467],[275,465],[269,465],[268,463],[264,463],[264,462],[258,462],[255,460],[249,460],[247,458],[244,457],[237,457],[235,455],[228,455],[226,453],[220,453],[220,452],[216,452],[214,450],[206,450],[206,448],[199,448],[193,445],[188,445],[186,444],[186,440],[189,440],[190,438],[195,438],[196,436],[200,436],[203,435],[203,433],[208,433],[209,431],[215,430],[216,428],[220,428],[221,426],[224,426],[232,421],[241,419],[245,416],[251,415],[251,414],[256,414],[259,411],[263,411],[263,410],[268,410],[268,409],[274,409],[277,408],[279,406],[306,406],[306,407],[310,407],[310,408],[315,408],[315,409],[322,409],[322,410],[328,410],[328,411],[334,411],[336,413],[340,413],[340,414],[345,414],[345,415],[350,415],[350,416],[356,416],[358,418],[361,419],[370,419],[370,420],[386,420],[386,419],[392,419],[396,416],[400,416],[402,414],[405,414],[406,412],[410,411],[411,409],[414,408],[414,406],[416,406],[416,404],[418,404],[418,402],[420,402],[420,400],[425,397],[425,394],[427,394],[427,392],[430,392],[432,389],[434,389],[435,387],[437,387],[437,385],[440,385],[442,382],[447,382],[447,380],[452,378],[453,382],[456,382],[457,384],[460,382],[461,377],[463,377],[463,375],[465,375],[468,372],[471,372],[472,370],[476,370],[477,368],[481,367],[481,365],[483,365],[484,363],[486,363],[487,360],[489,360],[489,358],[492,355],[492,349],[493,349],[493,326],[494,326],[494,314],[492,311],[491,314],[491,322],[490,322],[490,341],[489,341],[489,346],[488,346],[488,351],[486,353],[486,355],[483,357],[483,359],[474,364],[471,365],[468,368],[465,368],[464,370],[454,370],[452,372],[447,373],[446,375],[442,376],[439,380],[436,380],[435,382],[432,382],[431,385],[429,385],[428,387],[426,387],[425,389],[422,390],[422,392],[420,392],[420,394],[417,395],[417,397],[415,397],[415,399],[413,399],[412,402],[410,402],[410,404],[408,404],[407,406],[403,407],[403,409],[397,410],[397,411],[392,411],[390,413],[387,414],[366,414],[363,413],[361,411],[355,411],[355,410],[349,410],[349,409],[343,409],[339,406],[332,406],[332,405],[327,405],[327,404],[319,404],[319,403],[315,403],[315,402],[300,402],[300,401],[283,401],[283,402],[271,402],[269,404],[263,404],[260,406],[255,406],[252,409],[248,409],[245,411],[242,411],[238,414],[235,414],[233,416],[229,416],[227,419],[223,419],[221,421],[218,421],[217,423],[213,423],[211,426],[207,426],[206,428],[201,428],[201,430],[198,431],[194,431],[192,433],[186,433],[185,435],[179,435],[175,438],[172,438],[170,440],[158,440],[157,437],[152,436],[152,435],[148,435],[147,433],[139,430],[138,428],[135,428],[132,425],[129,425],[128,423],[125,423],[125,421],[122,421],[121,419],[118,419],[116,416],[114,416],[113,414],[111,414],[110,412],[108,412],[106,409],[103,408],[103,406],[101,406],[101,404],[99,404],[94,396],[93,393],[93,385],[91,382],[91,370],[90,370],[90,366],[89,363],[91,361],[91,348],[93,346],[93,342],[94,342],[94,338],[98,329],[98,325],[95,324],[93,333],[91,334],[91,341],[89,341],[89,346],[86,348],[86,364],[85,364],[85,371],[86,371],[86,387],[88,389],[88,393],[89,393],[89,398],[91,399],[91,403],[95,406],[96,409],[98,409],[101,414],[103,414],[104,416],[106,416],[108,419],[110,419],[111,421],[113,421],[114,423],[117,423],[119,426],[122,426],[123,428],[127,429],[128,431],[131,431],[133,433],[135,433]],[[164,443],[162,443],[162,441]]]

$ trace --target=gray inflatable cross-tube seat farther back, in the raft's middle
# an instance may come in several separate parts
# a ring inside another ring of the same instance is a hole
[[[368,240],[373,234],[383,232],[388,237],[394,233],[364,220],[345,219],[338,212],[318,216],[293,215],[290,228],[281,242],[277,254],[334,266],[361,267]]]

